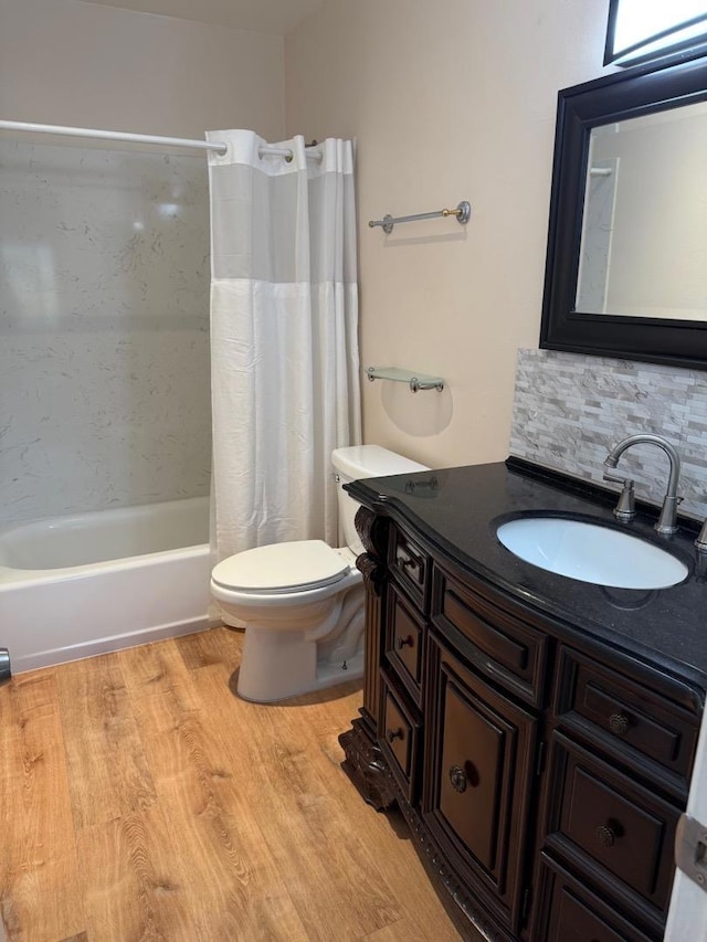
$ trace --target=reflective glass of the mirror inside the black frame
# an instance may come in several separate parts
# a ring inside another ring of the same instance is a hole
[[[592,128],[576,309],[707,319],[707,103]]]

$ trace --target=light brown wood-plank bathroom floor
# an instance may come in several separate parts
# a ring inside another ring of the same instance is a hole
[[[240,655],[215,628],[0,687],[0,940],[462,938],[339,768],[360,685],[256,706]]]

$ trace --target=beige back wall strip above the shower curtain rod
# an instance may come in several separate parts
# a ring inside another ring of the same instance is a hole
[[[0,117],[279,139],[283,41],[81,0],[0,0]]]

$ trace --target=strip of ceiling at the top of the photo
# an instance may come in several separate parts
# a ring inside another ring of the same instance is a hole
[[[236,30],[285,35],[318,9],[323,0],[83,0]]]

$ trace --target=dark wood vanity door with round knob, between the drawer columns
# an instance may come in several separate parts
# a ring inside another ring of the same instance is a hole
[[[535,718],[430,637],[424,815],[472,891],[520,925]]]

